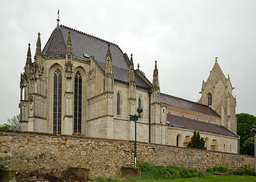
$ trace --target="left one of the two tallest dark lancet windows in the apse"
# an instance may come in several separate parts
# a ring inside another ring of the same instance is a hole
[[[56,69],[53,75],[53,133],[61,133],[62,75]]]

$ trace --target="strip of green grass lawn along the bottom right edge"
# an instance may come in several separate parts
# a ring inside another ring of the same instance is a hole
[[[196,178],[179,178],[179,179],[159,179],[159,180],[148,180],[148,179],[123,179],[122,182],[256,182],[255,176],[235,176],[235,175],[223,175],[223,176],[207,176],[207,177],[196,177]]]

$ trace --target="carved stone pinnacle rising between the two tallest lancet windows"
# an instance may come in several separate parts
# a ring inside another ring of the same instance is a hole
[[[66,68],[66,78],[71,78],[72,77],[72,67],[73,63],[71,63],[72,59],[72,45],[71,45],[71,36],[70,36],[70,31],[68,32],[68,45],[67,45],[67,50],[66,50],[66,56],[68,59],[68,62],[65,62],[65,68]]]

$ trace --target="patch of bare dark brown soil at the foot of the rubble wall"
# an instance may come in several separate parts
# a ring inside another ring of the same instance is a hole
[[[17,182],[81,182],[71,171],[53,169],[50,172],[18,172],[16,173]]]

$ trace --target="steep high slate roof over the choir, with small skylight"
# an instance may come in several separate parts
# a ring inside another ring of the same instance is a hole
[[[84,58],[84,53],[88,54],[89,57],[94,56],[98,65],[105,71],[106,54],[108,44],[110,44],[114,79],[128,83],[129,64],[124,58],[124,52],[118,45],[63,25],[60,25],[60,28],[53,30],[42,51],[42,55],[66,54],[68,32],[70,31],[73,56]],[[150,88],[136,73],[134,73],[134,76],[136,85],[145,89]]]

